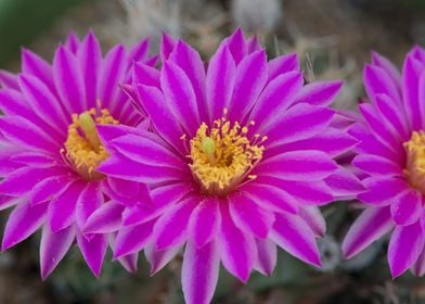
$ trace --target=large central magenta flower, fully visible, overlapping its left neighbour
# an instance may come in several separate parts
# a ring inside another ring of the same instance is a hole
[[[295,54],[268,62],[241,30],[207,68],[181,40],[165,37],[162,55],[127,88],[156,134],[100,127],[112,155],[99,170],[152,187],[153,204],[124,211],[115,257],[146,248],[156,273],[185,246],[188,303],[211,300],[220,262],[244,282],[253,268],[270,275],[276,244],[320,266],[318,206],[362,189],[333,161],[356,144],[327,107],[342,83],[305,86]]]

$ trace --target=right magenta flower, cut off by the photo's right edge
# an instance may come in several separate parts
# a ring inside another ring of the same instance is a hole
[[[343,243],[351,257],[391,232],[388,263],[392,277],[409,267],[425,274],[425,50],[413,48],[402,74],[374,53],[364,68],[370,103],[360,105],[364,119],[350,130],[361,142],[352,164],[369,189],[358,195],[366,204]]]

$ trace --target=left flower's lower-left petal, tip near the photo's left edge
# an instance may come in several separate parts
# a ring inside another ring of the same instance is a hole
[[[17,205],[4,227],[1,250],[14,246],[33,235],[44,221],[48,204],[30,206],[27,202]]]

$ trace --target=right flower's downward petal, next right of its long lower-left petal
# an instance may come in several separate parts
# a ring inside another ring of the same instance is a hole
[[[424,249],[420,223],[397,226],[388,245],[388,264],[394,278],[402,275],[415,263]]]

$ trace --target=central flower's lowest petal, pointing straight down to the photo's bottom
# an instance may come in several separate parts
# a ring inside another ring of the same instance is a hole
[[[189,242],[184,250],[181,283],[188,304],[210,303],[218,280],[220,258],[216,242],[202,248]]]

